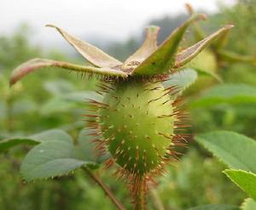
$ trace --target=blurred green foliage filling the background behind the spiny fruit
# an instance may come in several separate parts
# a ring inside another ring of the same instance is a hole
[[[162,27],[162,41],[185,16],[165,17],[151,20],[150,23]],[[210,16],[201,26],[208,34],[227,23],[236,25],[225,48],[239,54],[256,55],[255,22],[256,2],[249,0],[239,1],[230,9],[222,8],[219,14]],[[38,71],[32,77],[26,77],[23,82],[10,89],[8,78],[12,69],[34,57],[84,62],[80,58],[68,59],[61,52],[45,53],[40,47],[29,42],[30,35],[27,27],[22,26],[13,36],[0,37],[0,140],[49,128],[64,129],[77,139],[84,126],[83,91],[94,89],[96,79],[88,81],[79,75],[49,69],[48,72]],[[131,37],[125,43],[109,44],[107,51],[124,60],[141,42],[142,36]],[[185,40],[184,45],[189,44],[190,40]],[[218,60],[218,74],[224,82],[256,86],[253,64],[226,63]],[[207,76],[201,76],[201,81],[204,81],[204,78]],[[191,105],[190,102],[201,99],[205,89],[211,88],[210,86],[218,86],[218,81],[205,82],[203,88],[196,87],[195,84],[193,92],[187,94],[188,106]],[[250,101],[235,104],[224,101],[211,107],[191,107],[193,126],[190,132],[194,134],[226,129],[256,139],[255,109],[255,103]],[[27,150],[30,150],[30,147],[20,145],[0,154],[1,210],[114,209],[102,190],[80,170],[76,171],[74,176],[24,183],[19,175],[19,167]],[[209,203],[241,204],[246,195],[220,173],[224,169],[222,163],[193,141],[183,153],[181,162],[175,163],[176,167],[168,168],[170,173],[159,180],[156,195],[163,201],[166,209],[182,210]],[[96,173],[108,183],[119,200],[131,209],[127,191],[113,176],[113,169],[106,171],[101,167]],[[154,199],[148,200],[148,206],[149,209],[157,209]]]

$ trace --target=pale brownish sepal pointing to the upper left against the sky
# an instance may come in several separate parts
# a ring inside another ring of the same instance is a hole
[[[57,31],[61,33],[61,36],[64,37],[68,43],[70,43],[73,48],[75,48],[79,54],[82,54],[83,57],[88,60],[91,64],[98,67],[114,67],[116,65],[122,65],[122,62],[114,59],[110,55],[104,53],[101,49],[96,48],[90,43],[85,43],[77,37],[73,37],[68,34],[66,31],[61,28],[53,25],[47,25],[49,27],[54,27]]]

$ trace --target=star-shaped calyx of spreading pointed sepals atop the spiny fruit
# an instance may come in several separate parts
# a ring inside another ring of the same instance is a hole
[[[183,39],[187,28],[196,20],[205,19],[205,14],[194,14],[183,24],[172,31],[166,40],[157,46],[157,35],[160,28],[157,26],[148,26],[146,38],[135,54],[132,54],[125,62],[114,59],[112,56],[104,53],[90,43],[85,43],[77,37],[73,37],[61,28],[53,25],[61,33],[68,43],[75,48],[91,65],[76,65],[65,61],[33,59],[18,66],[10,77],[10,85],[18,82],[26,74],[44,68],[55,66],[69,71],[78,71],[103,77],[127,78],[127,77],[156,77],[168,75],[172,71],[179,70],[183,65],[193,60],[197,54],[200,54],[204,48],[212,43],[216,38],[222,36],[233,26],[228,25],[220,28],[208,37],[195,43],[189,48],[178,51],[179,45]]]

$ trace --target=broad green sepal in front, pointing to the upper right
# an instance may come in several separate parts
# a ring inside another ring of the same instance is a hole
[[[189,20],[186,20],[182,26],[179,26],[166,40],[151,54],[146,60],[137,66],[131,75],[134,76],[153,76],[164,74],[175,64],[175,55],[187,28],[195,21],[204,19],[205,15],[195,14]]]

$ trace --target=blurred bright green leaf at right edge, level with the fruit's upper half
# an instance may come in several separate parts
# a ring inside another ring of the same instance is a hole
[[[199,99],[191,102],[190,107],[210,107],[224,103],[256,103],[256,88],[247,84],[219,84],[207,89]]]

